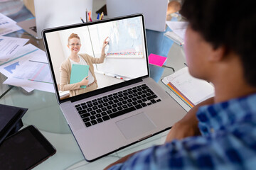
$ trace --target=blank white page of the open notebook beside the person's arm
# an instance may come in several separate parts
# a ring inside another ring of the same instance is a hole
[[[188,67],[179,69],[174,74],[164,77],[164,84],[173,84],[194,105],[214,96],[214,87],[207,81],[196,79],[188,72]]]

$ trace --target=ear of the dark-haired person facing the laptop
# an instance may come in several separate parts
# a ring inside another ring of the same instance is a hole
[[[217,62],[220,60],[223,60],[225,55],[227,55],[228,49],[224,45],[220,45],[219,47],[216,47],[211,50],[211,54],[208,55],[208,60],[212,62]]]

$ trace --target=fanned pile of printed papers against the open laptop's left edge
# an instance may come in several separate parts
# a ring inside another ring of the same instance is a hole
[[[31,44],[21,47],[9,60],[0,62],[0,72],[8,77],[4,84],[21,86],[28,92],[37,89],[54,93],[46,52]]]

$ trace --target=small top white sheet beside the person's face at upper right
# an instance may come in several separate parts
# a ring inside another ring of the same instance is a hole
[[[184,40],[186,28],[188,27],[188,22],[184,21],[166,21],[167,26],[176,33],[180,38]]]

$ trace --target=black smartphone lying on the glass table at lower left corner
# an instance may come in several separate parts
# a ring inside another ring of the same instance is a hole
[[[7,137],[0,145],[0,169],[32,169],[56,149],[33,125]]]

